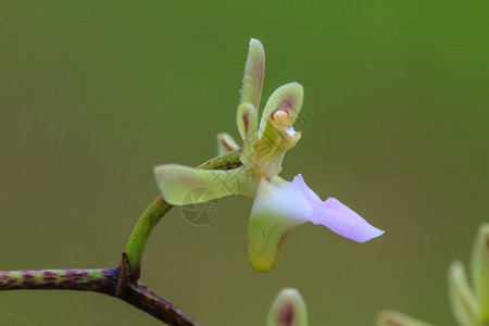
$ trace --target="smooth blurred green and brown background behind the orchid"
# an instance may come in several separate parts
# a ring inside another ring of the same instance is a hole
[[[263,325],[283,287],[311,325],[372,325],[396,309],[455,325],[447,268],[489,220],[489,2],[1,1],[0,269],[118,262],[158,195],[152,168],[198,165],[237,136],[250,37],[264,99],[305,88],[302,173],[386,234],[359,244],[317,226],[283,261],[247,259],[252,201],[220,200],[208,227],[173,210],[142,280],[204,325]],[[0,292],[1,325],[160,325],[110,297]]]

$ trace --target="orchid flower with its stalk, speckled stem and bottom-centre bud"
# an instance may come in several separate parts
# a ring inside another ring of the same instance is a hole
[[[68,289],[95,291],[122,299],[170,325],[198,325],[167,300],[139,281],[145,247],[152,229],[173,205],[195,204],[244,195],[254,198],[248,226],[249,261],[256,271],[268,271],[280,260],[287,235],[300,225],[324,225],[340,236],[365,242],[384,231],[334,198],[322,201],[297,175],[292,181],[278,176],[285,153],[301,137],[293,128],[302,106],[303,88],[290,83],[266,102],[259,123],[258,109],[265,72],[262,43],[252,39],[238,105],[238,145],[218,135],[218,153],[197,168],[176,164],[155,167],[161,195],[138,220],[118,266],[97,269],[0,272],[0,290]],[[195,189],[206,196],[188,196]],[[267,325],[306,325],[305,304],[293,289],[284,290],[273,304]]]

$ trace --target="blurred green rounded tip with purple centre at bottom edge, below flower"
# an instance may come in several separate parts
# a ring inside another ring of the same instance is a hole
[[[308,309],[301,293],[283,289],[268,311],[266,326],[308,326]]]

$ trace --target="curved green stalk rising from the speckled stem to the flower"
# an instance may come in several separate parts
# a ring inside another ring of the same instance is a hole
[[[241,165],[239,155],[241,150],[235,150],[224,155],[209,160],[205,163],[197,166],[201,170],[230,170]],[[141,214],[136,226],[134,227],[126,244],[126,255],[128,263],[128,275],[130,281],[139,279],[141,274],[142,254],[145,253],[146,243],[148,242],[151,231],[156,226],[158,222],[167,213],[173,206],[168,204],[163,196],[158,196],[153,202]]]

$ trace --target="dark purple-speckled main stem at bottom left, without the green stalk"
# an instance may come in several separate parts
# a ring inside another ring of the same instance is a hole
[[[140,283],[117,291],[120,266],[101,269],[43,269],[0,272],[0,291],[4,290],[78,290],[116,297],[153,317],[178,326],[198,325],[170,301]]]

